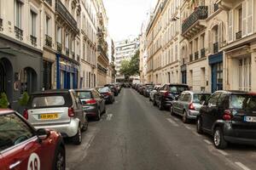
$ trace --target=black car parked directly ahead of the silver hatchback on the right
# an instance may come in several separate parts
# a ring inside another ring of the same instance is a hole
[[[189,86],[186,84],[165,84],[154,94],[153,104],[158,105],[159,109],[163,110],[166,107],[170,107],[172,101],[186,90],[189,90]]]

